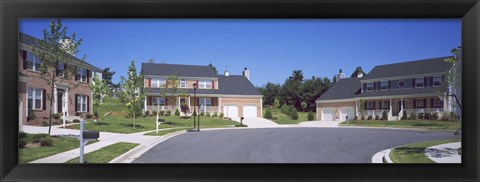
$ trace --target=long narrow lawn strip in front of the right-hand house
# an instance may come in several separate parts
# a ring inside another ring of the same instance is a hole
[[[451,121],[432,121],[432,120],[361,120],[341,122],[340,126],[368,126],[368,127],[393,127],[393,128],[418,128],[432,130],[457,130],[461,127],[461,121],[456,121],[455,125]]]

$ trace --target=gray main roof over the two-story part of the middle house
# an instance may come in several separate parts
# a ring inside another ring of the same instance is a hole
[[[142,63],[142,71],[145,75],[169,76],[176,74],[187,77],[217,77],[209,66],[198,65]]]

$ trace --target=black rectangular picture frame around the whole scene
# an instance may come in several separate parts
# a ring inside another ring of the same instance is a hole
[[[479,181],[478,0],[2,0],[0,12],[2,181]],[[18,165],[19,18],[461,18],[462,164]]]

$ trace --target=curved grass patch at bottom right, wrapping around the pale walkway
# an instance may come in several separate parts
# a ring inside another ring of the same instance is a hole
[[[461,139],[435,140],[397,147],[390,152],[394,163],[435,163],[425,155],[425,149],[434,145],[460,142]]]

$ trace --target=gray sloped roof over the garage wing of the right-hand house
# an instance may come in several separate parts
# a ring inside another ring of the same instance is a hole
[[[318,100],[351,99],[360,92],[358,78],[343,78],[333,84]]]

